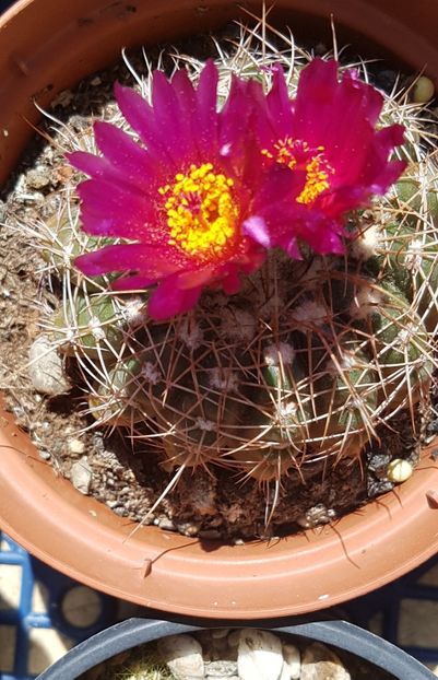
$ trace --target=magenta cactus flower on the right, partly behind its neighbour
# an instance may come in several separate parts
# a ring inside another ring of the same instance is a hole
[[[264,247],[299,257],[298,243],[321,254],[342,253],[345,213],[383,195],[405,167],[389,161],[403,127],[376,130],[383,97],[338,62],[313,59],[291,101],[283,71],[259,98],[257,136],[264,187],[244,231]]]

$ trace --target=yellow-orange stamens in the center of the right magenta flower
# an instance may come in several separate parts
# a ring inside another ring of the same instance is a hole
[[[329,177],[334,174],[324,154],[324,146],[310,149],[307,142],[293,140],[291,137],[279,140],[272,151],[262,150],[267,159],[286,165],[289,169],[306,172],[305,186],[295,199],[297,203],[312,203],[320,194],[330,188]]]

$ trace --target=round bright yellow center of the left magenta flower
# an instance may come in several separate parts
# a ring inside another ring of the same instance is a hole
[[[203,163],[190,165],[187,174],[175,176],[174,184],[159,187],[158,194],[166,199],[168,244],[202,259],[224,255],[239,215],[233,186],[233,179]]]

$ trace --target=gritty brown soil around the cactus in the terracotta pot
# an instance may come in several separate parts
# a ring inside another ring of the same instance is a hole
[[[205,46],[200,49],[205,52]],[[135,65],[141,55],[130,55],[130,60]],[[133,84],[123,63],[91,75],[74,92],[61,93],[49,113],[83,132],[103,107],[114,106],[116,80]],[[52,121],[43,122],[40,130],[45,138],[37,137],[29,146],[0,204],[0,220],[8,224],[0,232],[0,387],[8,408],[57,473],[71,478],[78,464],[85,472],[91,470],[90,484],[82,491],[129,519],[187,536],[240,541],[332,521],[393,488],[384,476],[392,458],[416,464],[422,442],[412,434],[409,417],[401,413],[393,430],[383,429],[380,445],[374,444],[362,461],[308,466],[305,483],[298,473],[285,477],[268,527],[265,513],[272,499],[267,499],[265,489],[254,480],[237,484],[235,473],[220,468],[214,474],[197,469],[196,484],[186,470],[177,488],[145,519],[171,479],[154,453],[145,450],[144,443],[96,430],[93,419],[84,414],[84,385],[76,383],[69,392],[48,397],[33,388],[29,377],[28,351],[44,319],[59,305],[59,285],[47,275],[45,261],[19,225],[47,220],[57,210],[66,184],[74,179]],[[54,143],[47,143],[47,136]],[[74,362],[68,362],[67,372],[73,382]]]

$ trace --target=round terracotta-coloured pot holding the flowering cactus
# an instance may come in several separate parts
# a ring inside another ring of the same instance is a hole
[[[254,12],[257,0],[248,3]],[[307,14],[304,14],[306,9]],[[330,44],[375,39],[438,80],[438,8],[428,0],[279,0],[274,20]],[[125,46],[167,40],[236,17],[232,0],[22,0],[0,20],[0,159],[3,178],[58,91],[116,60]],[[245,15],[244,15],[245,16]],[[319,16],[319,19],[318,19]],[[396,17],[396,19],[395,19]],[[42,560],[111,595],[161,611],[244,619],[320,609],[413,568],[438,548],[438,468],[425,452],[391,494],[321,527],[271,543],[205,543],[132,525],[56,477],[10,417],[0,418],[1,528]]]

